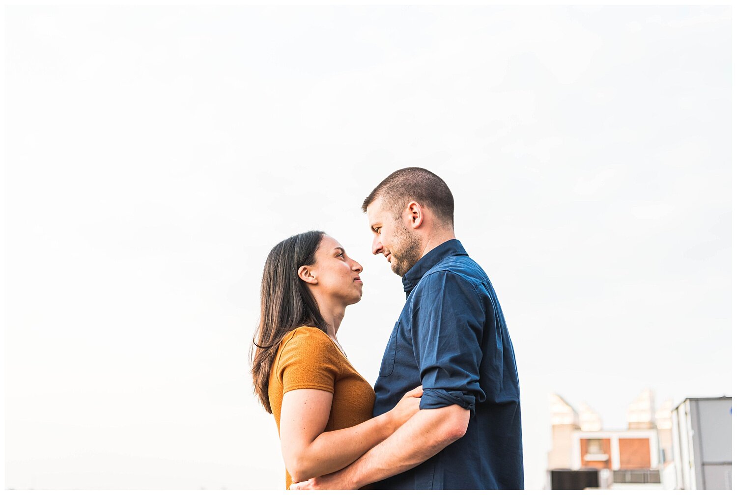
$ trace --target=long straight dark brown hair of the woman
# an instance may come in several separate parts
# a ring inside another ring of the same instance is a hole
[[[325,320],[307,284],[297,275],[303,264],[315,264],[315,253],[325,235],[309,231],[284,239],[266,257],[261,279],[261,315],[251,346],[254,390],[270,414],[269,373],[284,335],[299,326],[325,331]]]

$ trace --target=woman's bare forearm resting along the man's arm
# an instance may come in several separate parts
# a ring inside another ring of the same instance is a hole
[[[329,474],[348,466],[396,431],[391,412],[350,428],[324,432],[300,449],[293,466],[287,464],[294,482]],[[290,468],[291,467],[291,468]]]

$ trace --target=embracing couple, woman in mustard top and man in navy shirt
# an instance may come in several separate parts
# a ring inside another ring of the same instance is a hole
[[[522,489],[520,384],[489,277],[453,231],[453,194],[411,167],[363,202],[407,301],[374,387],[338,343],[363,267],[312,231],[268,255],[252,374],[293,490]]]

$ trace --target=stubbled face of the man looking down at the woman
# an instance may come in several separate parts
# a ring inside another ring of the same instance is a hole
[[[419,235],[408,228],[408,215],[402,211],[397,217],[395,211],[384,208],[383,198],[379,197],[368,205],[368,226],[374,234],[371,252],[383,254],[391,264],[391,271],[404,276],[422,258]]]

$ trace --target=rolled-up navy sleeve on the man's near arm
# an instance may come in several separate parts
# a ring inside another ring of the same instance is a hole
[[[486,396],[479,385],[484,311],[475,287],[448,271],[418,284],[411,334],[422,380],[420,409],[458,404],[475,415]]]

